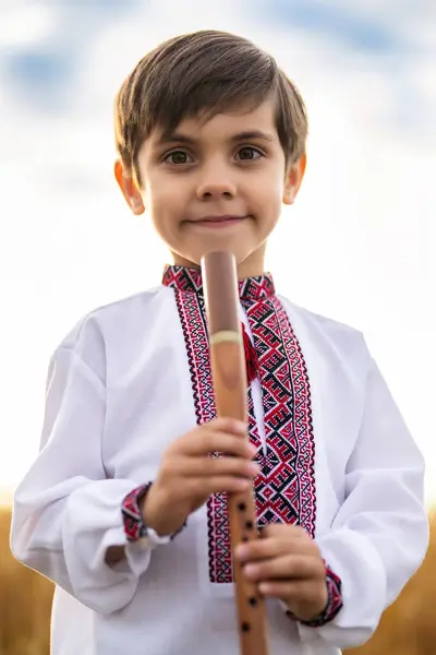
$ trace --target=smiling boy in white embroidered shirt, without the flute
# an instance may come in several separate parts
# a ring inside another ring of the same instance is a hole
[[[356,646],[423,560],[424,466],[362,335],[264,271],[304,176],[303,102],[254,45],[201,32],[140,61],[116,131],[118,183],[173,264],[82,320],[51,362],[12,550],[57,584],[52,653],[237,655],[226,492],[253,481],[263,538],[235,557],[267,598],[271,655]],[[210,250],[238,262],[250,448],[215,418]]]

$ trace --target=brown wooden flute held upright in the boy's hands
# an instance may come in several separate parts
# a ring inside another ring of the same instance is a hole
[[[209,333],[210,364],[217,415],[247,424],[247,378],[235,259],[230,252],[210,252],[202,259]],[[249,434],[246,433],[246,439]],[[258,538],[253,488],[228,493],[232,553],[242,541]],[[268,655],[264,598],[233,558],[237,619],[241,655]]]

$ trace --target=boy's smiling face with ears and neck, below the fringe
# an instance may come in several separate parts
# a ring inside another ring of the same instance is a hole
[[[286,171],[274,109],[267,100],[207,122],[185,119],[166,142],[155,130],[138,155],[142,190],[118,171],[132,210],[149,211],[175,264],[197,266],[206,252],[230,250],[241,277],[263,273],[266,240],[305,166],[303,157]]]

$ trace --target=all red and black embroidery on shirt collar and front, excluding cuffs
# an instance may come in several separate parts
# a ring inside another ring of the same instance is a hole
[[[190,362],[197,422],[216,416],[201,271],[167,266],[164,284],[175,290]],[[314,441],[311,393],[304,358],[270,275],[240,282],[262,383],[266,449],[258,434],[249,389],[250,439],[262,471],[255,480],[259,525],[292,523],[315,529]],[[207,504],[211,582],[232,582],[225,493]]]

